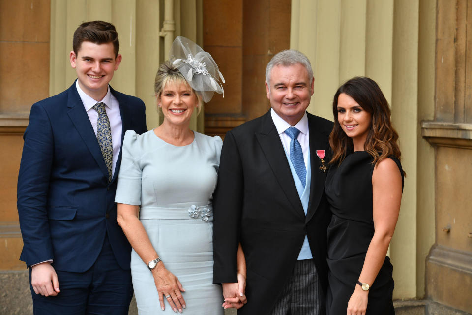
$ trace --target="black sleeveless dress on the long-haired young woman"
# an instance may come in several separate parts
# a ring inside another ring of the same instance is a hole
[[[400,172],[400,161],[392,158]],[[365,151],[349,154],[339,167],[330,167],[324,191],[333,214],[327,235],[327,315],[346,315],[374,236],[372,218],[373,158]],[[403,183],[403,172],[402,183]],[[366,315],[394,315],[392,303],[393,267],[385,257],[369,290]]]

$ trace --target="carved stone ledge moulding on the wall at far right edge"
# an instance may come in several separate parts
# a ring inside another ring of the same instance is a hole
[[[472,149],[472,124],[424,121],[421,135],[431,145]]]

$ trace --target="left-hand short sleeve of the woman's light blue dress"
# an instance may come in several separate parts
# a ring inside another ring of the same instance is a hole
[[[124,135],[115,195],[117,203],[141,205],[142,169],[139,164],[141,158],[139,137],[133,130],[126,131]]]

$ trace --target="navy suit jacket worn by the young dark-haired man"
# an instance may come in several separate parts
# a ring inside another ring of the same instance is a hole
[[[111,89],[111,88],[110,88]],[[145,105],[111,89],[117,98],[122,137],[147,131]],[[108,235],[116,260],[129,270],[131,246],[117,223],[115,174],[108,170],[75,83],[31,107],[18,176],[20,260],[27,266],[53,259],[56,270],[84,272]],[[122,140],[122,139],[121,139]]]

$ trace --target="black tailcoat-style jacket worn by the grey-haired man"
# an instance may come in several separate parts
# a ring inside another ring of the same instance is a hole
[[[226,134],[214,194],[214,283],[237,282],[241,242],[247,264],[248,303],[238,314],[268,314],[282,293],[308,236],[324,293],[326,229],[331,213],[326,174],[316,150],[325,150],[333,123],[308,114],[311,186],[307,215],[270,112]]]

